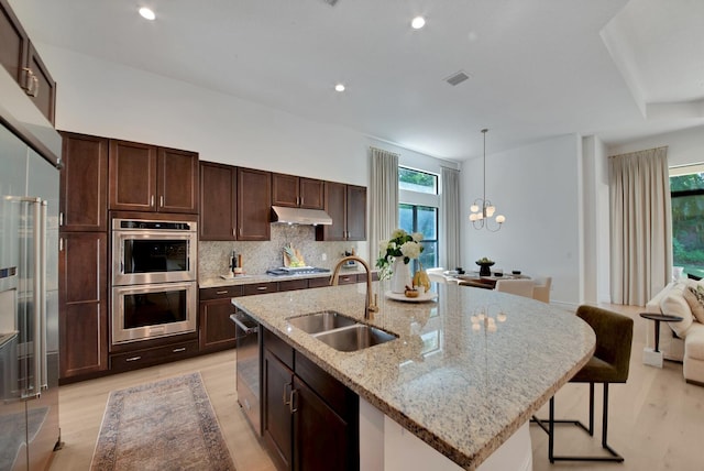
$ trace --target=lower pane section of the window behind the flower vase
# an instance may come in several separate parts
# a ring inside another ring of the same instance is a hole
[[[422,234],[422,252],[420,263],[424,269],[438,266],[438,208],[429,206],[398,205],[399,226],[406,232],[420,232]],[[410,272],[416,272],[418,260],[411,260]]]

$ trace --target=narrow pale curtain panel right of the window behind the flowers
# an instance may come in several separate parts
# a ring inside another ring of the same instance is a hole
[[[442,204],[440,206],[440,247],[444,248],[448,270],[461,266],[460,254],[460,172],[442,167]]]

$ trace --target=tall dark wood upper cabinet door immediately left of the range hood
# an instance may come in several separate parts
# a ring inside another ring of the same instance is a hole
[[[272,174],[238,168],[238,240],[271,239]]]

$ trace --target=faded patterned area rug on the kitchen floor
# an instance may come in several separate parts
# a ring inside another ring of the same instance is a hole
[[[200,373],[113,391],[91,471],[233,471]]]

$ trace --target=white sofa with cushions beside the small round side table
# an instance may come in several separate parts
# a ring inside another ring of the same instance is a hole
[[[704,282],[681,280],[670,283],[646,305],[648,313],[662,313],[682,317],[680,322],[661,322],[660,351],[668,360],[681,361],[682,373],[688,383],[704,386],[704,315],[692,313],[692,298],[685,299],[684,291],[690,286],[696,288]],[[698,317],[698,320],[697,320]],[[654,327],[648,326],[649,347],[654,344],[654,336],[650,332]],[[669,326],[669,328],[668,328]]]

